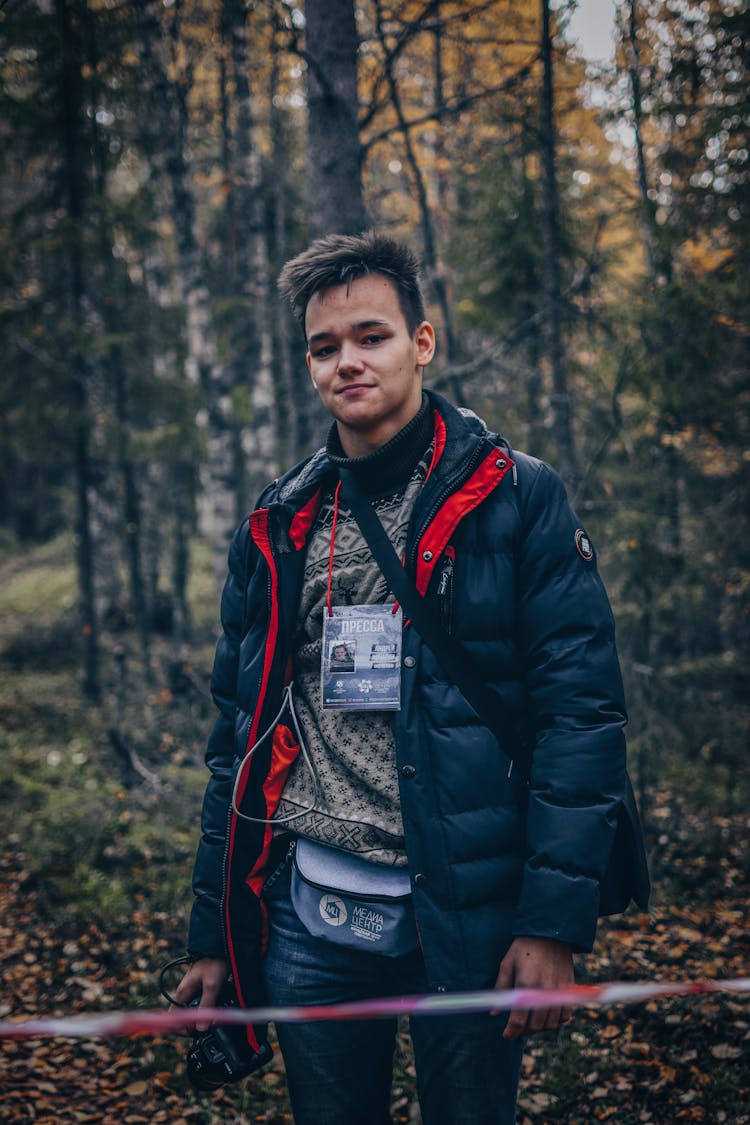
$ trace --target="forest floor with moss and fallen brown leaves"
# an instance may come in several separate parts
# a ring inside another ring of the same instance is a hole
[[[92,706],[78,691],[71,544],[0,558],[0,1018],[159,1007],[160,966],[183,952],[200,795],[215,598],[192,587],[190,662],[154,646],[141,687],[125,668]],[[126,622],[124,622],[126,623]],[[109,645],[111,654],[112,646]],[[128,670],[130,669],[130,670]],[[109,729],[117,718],[119,741]],[[117,746],[119,745],[119,753]],[[123,757],[136,752],[136,772]],[[145,775],[137,772],[143,767]],[[605,920],[579,981],[731,979],[749,973],[748,784],[711,756],[665,749],[645,804],[654,894],[648,915]],[[446,1017],[450,1018],[450,1017]],[[183,1038],[0,1043],[0,1120],[57,1125],[290,1123],[278,1054],[215,1095],[192,1090]],[[394,1120],[418,1122],[399,1035]],[[585,1125],[750,1123],[747,998],[712,993],[578,1009],[530,1044],[518,1120]]]

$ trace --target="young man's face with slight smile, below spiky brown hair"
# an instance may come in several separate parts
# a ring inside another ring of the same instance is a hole
[[[307,366],[349,457],[389,441],[422,405],[422,368],[435,352],[424,321],[412,335],[396,287],[381,273],[315,294],[305,314]]]

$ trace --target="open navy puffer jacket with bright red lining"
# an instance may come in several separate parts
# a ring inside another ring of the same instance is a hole
[[[516,935],[591,947],[596,919],[642,906],[648,874],[625,772],[614,624],[593,548],[559,477],[428,393],[433,468],[407,567],[444,628],[523,723],[528,776],[508,758],[416,630],[404,633],[397,765],[414,906],[432,987],[489,988]],[[273,724],[289,681],[305,544],[332,468],[320,451],[270,486],[240,528],[213,691],[219,719],[196,862],[189,948],[228,956],[241,1002],[262,998],[270,818],[298,753]],[[613,845],[617,837],[616,855]],[[622,846],[621,846],[622,845]],[[606,902],[602,901],[605,880]],[[614,880],[614,882],[613,882]]]

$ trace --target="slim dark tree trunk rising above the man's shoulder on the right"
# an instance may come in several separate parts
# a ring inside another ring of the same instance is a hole
[[[542,246],[544,255],[544,313],[546,346],[552,372],[552,418],[560,471],[575,488],[578,462],[573,440],[570,396],[562,340],[562,299],[560,282],[560,199],[555,165],[554,86],[552,73],[552,32],[550,2],[542,0]]]

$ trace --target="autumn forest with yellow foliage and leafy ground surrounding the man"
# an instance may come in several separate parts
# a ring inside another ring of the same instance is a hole
[[[0,1019],[161,1002],[229,539],[326,430],[277,278],[365,228],[423,262],[427,385],[597,548],[654,891],[579,979],[748,975],[750,11],[616,0],[591,62],[576,7],[0,3]],[[519,1122],[749,1122],[748,1028],[582,1009]],[[291,1120],[278,1052],[211,1098],[168,1038],[1,1043],[0,1089],[19,1123]]]

